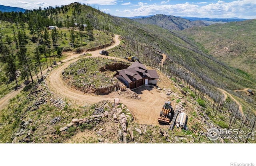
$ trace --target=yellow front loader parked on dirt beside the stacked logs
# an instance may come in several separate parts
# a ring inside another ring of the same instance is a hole
[[[172,121],[173,115],[174,111],[172,109],[171,102],[166,101],[162,107],[160,116],[158,117],[158,122],[169,124]]]

